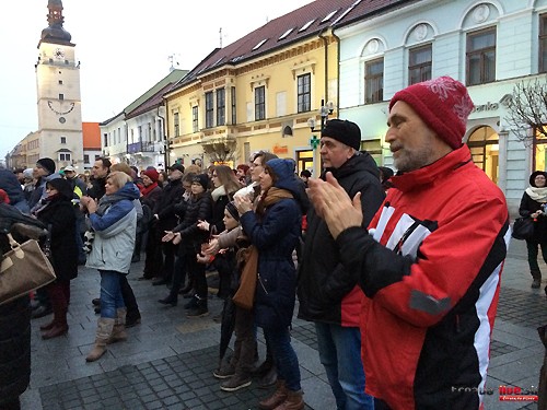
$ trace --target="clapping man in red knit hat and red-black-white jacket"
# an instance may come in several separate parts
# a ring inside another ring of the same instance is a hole
[[[368,231],[360,194],[333,175],[310,196],[366,295],[361,350],[375,409],[479,409],[500,274],[505,199],[462,144],[473,102],[449,77],[389,102],[393,188]]]

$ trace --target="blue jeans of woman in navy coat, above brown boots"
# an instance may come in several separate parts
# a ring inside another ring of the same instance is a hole
[[[299,358],[292,348],[289,328],[264,328],[264,338],[271,348],[278,379],[284,380],[289,390],[299,391],[302,388]]]

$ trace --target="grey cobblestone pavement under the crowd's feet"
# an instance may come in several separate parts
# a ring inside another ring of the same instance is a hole
[[[545,272],[547,267],[542,266]],[[54,409],[256,409],[272,391],[256,384],[235,393],[224,393],[212,376],[218,365],[221,301],[211,296],[210,316],[187,318],[183,300],[165,307],[156,300],[166,295],[165,286],[138,281],[142,262],[132,265],[129,281],[142,314],[142,323],[128,329],[128,341],[108,347],[103,359],[85,363],[94,340],[96,316],[91,300],[98,292],[98,273],[81,268],[72,282],[66,337],[42,340],[39,325],[33,320],[31,385],[22,396],[23,410]],[[485,396],[487,409],[536,409],[529,402],[499,401],[498,386],[537,386],[545,349],[536,328],[547,324],[547,298],[542,290],[529,288],[525,246],[513,241],[505,262],[498,316],[491,343],[491,361]],[[544,285],[546,283],[544,282]],[[318,361],[314,326],[294,319],[293,345],[296,350],[306,409],[334,410],[336,405],[323,365]],[[260,331],[259,355],[265,347]]]

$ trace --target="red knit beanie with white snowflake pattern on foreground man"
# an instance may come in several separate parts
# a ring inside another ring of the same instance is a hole
[[[467,117],[474,105],[467,89],[459,81],[440,77],[407,86],[393,96],[389,110],[397,101],[409,104],[450,147],[462,147]]]

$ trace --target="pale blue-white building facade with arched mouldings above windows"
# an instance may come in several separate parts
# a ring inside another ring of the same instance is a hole
[[[476,106],[463,142],[514,213],[532,171],[546,167],[545,140],[521,141],[508,119],[514,86],[546,81],[544,31],[547,0],[422,0],[337,28],[339,117],[359,124],[363,144],[380,145],[392,166],[389,98],[431,78],[462,81]]]

